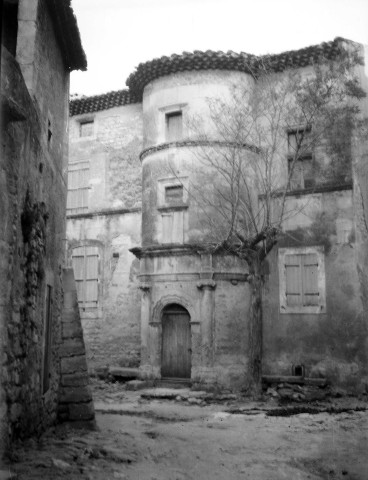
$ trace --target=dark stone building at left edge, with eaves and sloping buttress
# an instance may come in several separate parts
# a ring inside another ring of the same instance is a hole
[[[1,447],[54,423],[60,403],[72,418],[67,394],[80,382],[84,418],[93,418],[86,373],[67,386],[86,362],[75,286],[63,272],[69,75],[86,69],[86,57],[69,1],[2,4]],[[80,406],[74,419],[83,419]]]

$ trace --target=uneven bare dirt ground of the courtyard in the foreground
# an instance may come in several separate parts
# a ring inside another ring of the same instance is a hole
[[[280,408],[272,400],[131,392],[98,381],[94,397],[95,431],[62,425],[19,444],[0,469],[3,478],[368,479],[366,401]],[[305,410],[312,413],[298,413]]]

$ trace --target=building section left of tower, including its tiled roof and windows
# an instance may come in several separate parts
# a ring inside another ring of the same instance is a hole
[[[70,107],[67,257],[91,370],[139,366],[142,104],[127,90]]]

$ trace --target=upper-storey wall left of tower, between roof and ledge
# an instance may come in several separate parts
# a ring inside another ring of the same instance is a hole
[[[93,120],[93,135],[80,124]],[[132,104],[70,118],[69,162],[90,162],[88,211],[141,204],[142,105]]]

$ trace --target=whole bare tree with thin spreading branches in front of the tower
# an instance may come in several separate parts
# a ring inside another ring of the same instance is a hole
[[[261,385],[263,263],[283,222],[297,213],[289,208],[288,192],[316,185],[306,162],[310,152],[329,157],[328,168],[319,166],[321,182],[349,176],[350,158],[341,150],[349,150],[364,96],[354,74],[359,63],[352,48],[334,61],[321,57],[303,74],[292,68],[275,73],[264,59],[253,86],[237,84],[228,98],[208,99],[210,122],[204,125],[200,116],[188,122],[198,145],[190,194],[203,213],[208,248],[248,266],[250,393]]]

